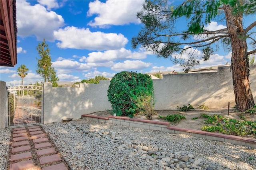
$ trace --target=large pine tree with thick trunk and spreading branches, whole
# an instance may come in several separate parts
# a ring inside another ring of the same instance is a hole
[[[214,53],[214,45],[217,49],[222,43],[225,50],[232,51],[230,69],[236,107],[246,110],[254,106],[248,55],[256,53],[256,33],[252,31],[256,21],[244,27],[243,16],[255,14],[255,0],[189,0],[179,6],[171,6],[166,0],[146,0],[137,13],[144,27],[132,38],[132,47],[142,45],[158,57],[170,57],[186,71],[199,64],[198,50],[202,50],[202,59],[207,61]],[[227,27],[215,31],[206,29],[204,25],[217,19],[226,21]],[[188,25],[184,30],[176,28],[185,21]],[[248,52],[247,43],[254,50]],[[182,54],[188,54],[188,59],[182,58]]]

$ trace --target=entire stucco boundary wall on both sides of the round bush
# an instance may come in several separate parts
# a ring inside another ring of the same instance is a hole
[[[256,64],[250,66],[250,82],[256,101]],[[80,84],[80,88],[52,88],[51,83],[44,83],[44,123],[111,109],[109,84],[109,80],[101,80],[100,84]],[[164,75],[153,84],[157,110],[177,109],[184,104],[227,108],[230,102],[230,107],[235,106],[229,66],[218,67],[218,72]]]

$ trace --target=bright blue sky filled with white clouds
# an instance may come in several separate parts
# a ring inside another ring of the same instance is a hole
[[[182,71],[170,59],[157,58],[143,48],[131,48],[132,37],[142,27],[136,13],[143,2],[17,0],[18,63],[14,67],[0,67],[0,79],[7,84],[19,84],[21,78],[17,68],[25,64],[29,69],[25,82],[43,80],[36,73],[36,46],[44,38],[60,81],[79,82],[98,75],[112,77],[123,70],[142,73]],[[174,5],[181,2],[170,1]],[[226,25],[212,21],[205,27],[214,30]],[[198,51],[198,55],[202,52]],[[209,61],[201,61],[198,67],[226,64],[230,58],[231,53],[220,48]]]

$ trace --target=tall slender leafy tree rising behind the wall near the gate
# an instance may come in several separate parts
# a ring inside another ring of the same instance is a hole
[[[58,87],[58,77],[54,67],[52,67],[52,59],[50,56],[50,49],[48,44],[46,44],[45,39],[36,47],[38,51],[39,59],[36,67],[36,73],[40,74],[44,78],[44,82],[51,82],[53,87]]]

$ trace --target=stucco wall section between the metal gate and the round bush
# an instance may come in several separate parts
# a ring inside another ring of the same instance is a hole
[[[101,80],[100,84],[80,84],[79,88],[52,88],[51,83],[44,83],[44,123],[79,119],[82,114],[111,109],[109,84],[109,80]]]

